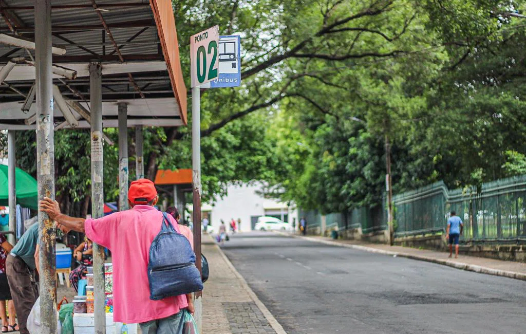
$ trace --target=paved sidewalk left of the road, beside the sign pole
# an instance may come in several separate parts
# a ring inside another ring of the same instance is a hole
[[[286,334],[209,235],[203,235],[203,254],[210,266],[203,334]]]

